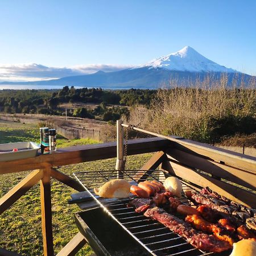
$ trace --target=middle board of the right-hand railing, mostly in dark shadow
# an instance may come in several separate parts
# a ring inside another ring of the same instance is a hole
[[[214,176],[256,190],[256,175],[251,172],[226,166],[226,164],[217,163],[210,159],[177,150],[176,148],[170,148],[166,153],[168,158],[174,159],[188,167],[208,172]]]

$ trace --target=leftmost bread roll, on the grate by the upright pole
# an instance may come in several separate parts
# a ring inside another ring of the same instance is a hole
[[[130,183],[127,180],[114,179],[106,182],[100,188],[94,188],[96,195],[106,198],[125,198],[130,193]]]

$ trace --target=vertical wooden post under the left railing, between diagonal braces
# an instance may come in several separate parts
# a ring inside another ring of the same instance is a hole
[[[40,181],[42,232],[44,256],[53,256],[52,209],[51,209],[51,168],[43,171]]]

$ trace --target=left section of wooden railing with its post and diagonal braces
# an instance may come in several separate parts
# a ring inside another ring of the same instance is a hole
[[[159,138],[129,141],[129,150],[127,154],[134,155],[159,151],[167,147],[169,143],[170,142]],[[44,255],[55,255],[53,251],[52,237],[51,178],[59,180],[77,191],[82,191],[83,188],[76,180],[60,171],[57,171],[54,167],[114,158],[116,154],[116,143],[112,142],[61,148],[49,155],[40,155],[35,158],[0,162],[0,175],[32,170],[30,174],[28,174],[0,199],[0,214],[5,212],[6,209],[15,203],[16,200],[23,196],[24,193],[26,193],[36,183],[40,182],[43,251]],[[69,245],[73,246],[73,248],[69,248],[69,250],[64,248],[63,251],[61,250],[62,252],[60,251],[59,255],[75,255],[75,252],[79,250],[84,243],[81,242],[81,236],[78,234],[75,236],[74,241],[69,243]],[[0,255],[7,255],[7,251],[0,249]]]

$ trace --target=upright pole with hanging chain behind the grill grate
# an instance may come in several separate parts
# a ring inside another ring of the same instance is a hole
[[[120,170],[123,170],[123,127],[122,120],[117,120],[117,162],[115,164],[115,170],[117,170],[117,178],[122,179],[123,174]]]

